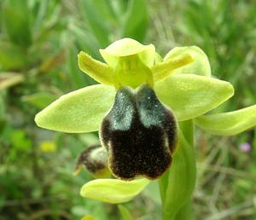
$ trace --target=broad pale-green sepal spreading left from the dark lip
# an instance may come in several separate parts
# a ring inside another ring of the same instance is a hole
[[[113,105],[115,90],[91,85],[61,96],[36,115],[39,127],[71,133],[99,130],[104,115]]]

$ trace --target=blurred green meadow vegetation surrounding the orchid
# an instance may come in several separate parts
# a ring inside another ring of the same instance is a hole
[[[73,177],[75,159],[97,134],[42,130],[33,121],[56,97],[96,84],[79,70],[79,50],[102,60],[98,49],[124,37],[153,43],[160,55],[197,45],[212,74],[236,89],[217,111],[235,110],[256,103],[255,14],[255,0],[1,0],[0,220],[122,219],[116,206],[80,197],[86,171]],[[255,131],[197,130],[194,219],[256,219]],[[137,220],[160,220],[156,182],[125,206]]]

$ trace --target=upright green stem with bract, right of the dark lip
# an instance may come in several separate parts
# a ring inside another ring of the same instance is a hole
[[[179,123],[177,152],[170,170],[160,178],[164,220],[189,220],[191,194],[195,188],[194,123]]]

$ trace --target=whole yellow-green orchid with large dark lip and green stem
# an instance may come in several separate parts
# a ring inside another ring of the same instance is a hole
[[[100,53],[106,62],[79,53],[80,69],[99,84],[61,96],[35,121],[63,132],[99,130],[118,179],[87,182],[84,197],[125,202],[158,179],[164,219],[182,219],[195,188],[194,124],[215,135],[236,135],[255,126],[256,105],[206,114],[234,89],[211,76],[207,55],[196,46],[174,48],[162,58],[154,45],[123,38]]]

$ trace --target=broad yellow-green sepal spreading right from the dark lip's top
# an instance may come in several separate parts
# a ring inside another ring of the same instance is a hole
[[[173,74],[155,84],[154,90],[179,121],[207,113],[234,94],[230,83],[195,74]]]

